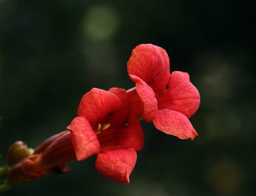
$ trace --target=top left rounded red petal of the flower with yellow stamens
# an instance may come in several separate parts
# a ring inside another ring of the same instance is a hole
[[[82,97],[78,106],[78,116],[86,118],[94,128],[110,113],[114,113],[122,106],[122,102],[112,92],[92,88]]]

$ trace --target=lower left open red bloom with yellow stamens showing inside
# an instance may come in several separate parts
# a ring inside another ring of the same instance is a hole
[[[78,117],[68,129],[78,161],[96,154],[100,174],[129,184],[136,151],[143,146],[143,132],[136,116],[130,113],[125,90],[93,88],[82,97]]]

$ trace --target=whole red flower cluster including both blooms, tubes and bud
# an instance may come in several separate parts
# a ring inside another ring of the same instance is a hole
[[[97,156],[95,166],[100,174],[129,184],[137,152],[143,147],[140,120],[153,122],[156,129],[181,139],[197,136],[188,118],[199,108],[199,92],[188,73],[170,73],[169,57],[163,48],[136,46],[127,62],[127,72],[135,87],[107,91],[92,88],[83,95],[78,115],[68,130],[48,138],[35,150],[24,147],[23,142],[12,145],[6,184],[68,172],[68,162],[92,155]]]

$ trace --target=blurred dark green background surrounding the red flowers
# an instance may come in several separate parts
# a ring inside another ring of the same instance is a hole
[[[201,95],[192,142],[142,122],[130,185],[98,174],[91,157],[0,194],[255,195],[253,25],[249,0],[0,0],[0,165],[12,142],[36,147],[65,130],[92,87],[133,87],[126,62],[138,44],[167,50]]]

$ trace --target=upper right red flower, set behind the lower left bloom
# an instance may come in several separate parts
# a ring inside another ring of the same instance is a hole
[[[127,62],[129,77],[136,83],[128,90],[131,108],[139,118],[181,139],[197,136],[188,120],[199,108],[200,95],[188,73],[169,73],[169,57],[163,48],[141,44]]]

